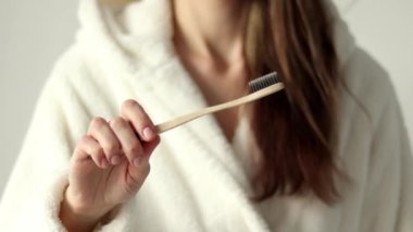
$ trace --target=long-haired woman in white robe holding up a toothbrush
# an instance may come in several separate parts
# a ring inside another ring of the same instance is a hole
[[[7,231],[413,230],[395,91],[329,2],[83,0],[79,16],[4,193]],[[161,142],[153,122],[274,70],[285,91]]]

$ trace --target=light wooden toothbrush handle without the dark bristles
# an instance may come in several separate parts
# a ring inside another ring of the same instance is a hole
[[[261,90],[258,90],[255,93],[252,93],[252,94],[249,94],[247,96],[240,97],[238,99],[235,99],[235,100],[231,100],[231,101],[227,101],[227,102],[224,102],[224,103],[220,103],[220,105],[216,105],[216,106],[203,108],[201,110],[197,110],[195,112],[191,112],[191,113],[188,113],[188,114],[175,118],[175,119],[173,119],[171,121],[163,122],[161,124],[155,125],[155,129],[158,130],[158,133],[163,133],[163,132],[166,132],[166,131],[168,131],[171,129],[179,126],[179,125],[182,125],[184,123],[187,123],[189,121],[198,119],[200,117],[203,117],[203,115],[206,115],[206,114],[210,114],[210,113],[214,113],[214,112],[217,112],[217,111],[221,111],[221,110],[225,110],[225,109],[228,109],[228,108],[237,107],[237,106],[240,106],[240,105],[243,105],[243,103],[248,103],[248,102],[251,102],[251,101],[254,101],[254,100],[258,100],[258,99],[263,98],[265,96],[268,96],[268,95],[272,95],[274,93],[277,93],[277,91],[281,90],[283,88],[284,88],[283,83],[277,83],[277,84],[271,85],[268,87],[265,87],[265,88],[263,88]]]

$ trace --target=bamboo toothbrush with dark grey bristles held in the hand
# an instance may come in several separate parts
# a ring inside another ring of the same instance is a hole
[[[215,113],[221,110],[225,110],[228,108],[237,107],[243,103],[248,103],[254,100],[258,100],[260,98],[263,98],[265,96],[272,95],[274,93],[277,93],[284,88],[284,84],[279,82],[277,73],[268,73],[266,75],[263,75],[259,78],[255,78],[248,83],[249,91],[250,94],[240,98],[237,98],[231,101],[227,101],[224,103],[215,105],[212,107],[203,108],[200,110],[197,110],[195,112],[184,114],[182,117],[175,118],[171,121],[163,122],[161,124],[155,125],[155,129],[158,133],[166,132],[171,129],[174,129],[176,126],[179,126],[184,123],[190,122],[195,119],[198,119],[200,117]]]

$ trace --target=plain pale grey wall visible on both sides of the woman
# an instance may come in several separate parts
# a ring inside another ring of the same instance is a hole
[[[413,1],[335,0],[391,74],[413,135]],[[0,1],[0,196],[52,64],[74,40],[77,1]],[[411,139],[413,142],[413,139]]]

